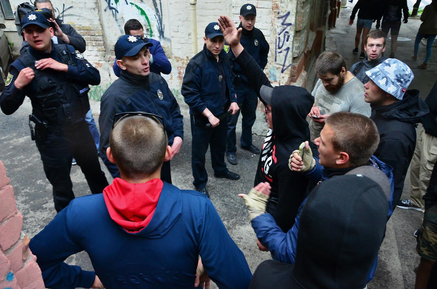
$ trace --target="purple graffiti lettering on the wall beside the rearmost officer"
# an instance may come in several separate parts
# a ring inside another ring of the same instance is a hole
[[[279,15],[279,12],[277,12]],[[290,31],[289,28],[293,25],[291,22],[288,22],[288,17],[290,16],[290,12],[287,12],[284,15],[278,16],[277,21],[281,21],[281,24],[277,27],[277,37],[275,39],[275,53],[274,53],[274,61],[281,64],[281,73],[284,73],[291,66],[292,57],[288,57],[288,53],[290,52],[290,44],[292,39],[290,39]],[[281,20],[280,20],[281,19]]]

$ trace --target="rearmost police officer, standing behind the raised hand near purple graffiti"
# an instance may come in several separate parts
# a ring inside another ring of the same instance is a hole
[[[269,53],[269,44],[264,38],[263,32],[255,28],[255,21],[257,19],[257,9],[252,4],[244,4],[240,9],[240,25],[238,28],[243,28],[241,32],[240,43],[244,49],[249,52],[255,61],[264,69],[267,64],[267,55]],[[260,150],[252,144],[252,126],[256,119],[256,110],[258,105],[257,93],[253,90],[244,73],[241,71],[239,65],[234,62],[233,72],[235,73],[235,92],[237,94],[237,102],[242,105],[241,114],[243,119],[241,121],[241,148],[250,151],[253,154],[259,154]],[[226,148],[226,157],[228,162],[232,165],[237,164],[235,153],[236,148],[236,134],[235,127],[238,121],[239,112],[229,118],[228,127],[228,141]]]

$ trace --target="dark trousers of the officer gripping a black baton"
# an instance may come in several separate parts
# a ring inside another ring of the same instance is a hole
[[[229,106],[228,106],[229,107]],[[224,111],[225,112],[225,111]],[[226,135],[228,120],[220,121],[216,127],[206,128],[208,119],[203,115],[190,115],[191,121],[191,169],[193,170],[193,185],[201,189],[208,182],[208,174],[205,169],[205,154],[208,146],[211,151],[211,164],[215,175],[223,175],[228,169],[225,164]]]

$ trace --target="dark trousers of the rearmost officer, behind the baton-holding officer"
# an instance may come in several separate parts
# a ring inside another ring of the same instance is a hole
[[[244,84],[236,87],[235,92],[237,94],[237,103],[242,104],[241,109],[234,115],[229,117],[228,122],[228,138],[226,152],[228,154],[235,154],[236,147],[236,134],[235,127],[237,125],[238,117],[241,115],[241,138],[240,143],[242,146],[252,145],[252,126],[257,118],[256,110],[258,105],[257,93],[252,87]]]

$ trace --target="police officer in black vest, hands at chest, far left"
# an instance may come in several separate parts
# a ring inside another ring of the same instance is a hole
[[[74,199],[70,179],[73,154],[91,193],[102,193],[108,186],[84,120],[90,109],[88,85],[98,85],[100,74],[72,46],[52,42],[53,28],[44,15],[26,14],[21,29],[29,48],[10,65],[0,107],[3,113],[13,114],[24,96],[30,98],[29,118],[36,125],[35,135],[31,129],[32,139],[35,137],[59,212]]]

